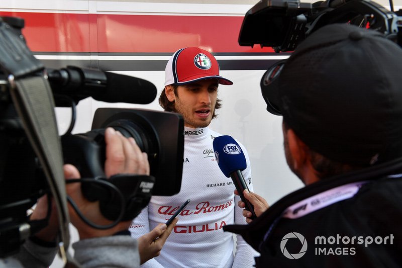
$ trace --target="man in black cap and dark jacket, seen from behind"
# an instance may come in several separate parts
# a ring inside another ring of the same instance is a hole
[[[261,253],[256,267],[401,266],[401,59],[377,31],[330,24],[272,79],[286,160],[306,187],[270,208],[244,193],[259,217],[224,229]]]

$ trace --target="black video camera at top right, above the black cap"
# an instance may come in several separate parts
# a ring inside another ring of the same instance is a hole
[[[317,29],[346,23],[384,34],[402,47],[402,10],[393,12],[369,0],[326,0],[313,4],[298,0],[261,0],[245,15],[239,34],[241,46],[272,47],[275,52],[293,51]],[[278,102],[279,76],[286,60],[273,63],[261,79],[267,111],[281,115]]]

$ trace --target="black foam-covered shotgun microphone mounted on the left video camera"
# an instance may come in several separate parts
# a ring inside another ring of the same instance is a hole
[[[76,102],[92,97],[108,103],[149,104],[156,98],[153,83],[129,75],[75,66],[46,71],[52,91],[71,96]]]

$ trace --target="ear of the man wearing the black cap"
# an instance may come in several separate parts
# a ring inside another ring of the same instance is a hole
[[[298,169],[309,161],[308,150],[309,147],[300,140],[299,137],[294,133],[294,131],[289,128],[287,131],[287,142],[289,145],[289,153],[293,159],[293,168]]]

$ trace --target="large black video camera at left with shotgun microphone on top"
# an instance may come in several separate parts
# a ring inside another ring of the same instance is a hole
[[[0,257],[16,253],[26,238],[47,225],[48,218],[34,222],[27,216],[27,210],[45,194],[54,198],[61,241],[68,246],[63,163],[78,168],[82,179],[75,181],[81,183],[84,197],[99,201],[102,214],[114,221],[108,226],[87,221],[99,229],[133,219],[151,195],[171,196],[181,187],[184,123],[179,114],[103,108],[95,112],[91,131],[71,134],[80,100],[147,104],[156,97],[155,85],[73,66],[46,69],[27,47],[23,28],[23,19],[0,17]],[[55,107],[72,109],[70,127],[61,138]],[[148,154],[150,176],[106,178],[107,127],[136,140]]]

